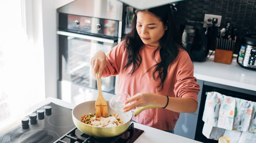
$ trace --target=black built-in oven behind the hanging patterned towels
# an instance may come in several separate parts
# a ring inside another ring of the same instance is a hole
[[[235,98],[256,102],[256,91],[247,90],[247,89],[238,88],[238,87],[230,87],[226,85],[204,81],[203,88],[202,88],[201,103],[200,103],[199,113],[198,113],[196,134],[195,134],[195,140],[201,141],[204,143],[218,143],[217,140],[208,139],[203,135],[203,126],[204,126],[203,112],[205,108],[206,95],[207,95],[207,92],[211,92],[211,91],[215,91],[230,97],[235,97]]]

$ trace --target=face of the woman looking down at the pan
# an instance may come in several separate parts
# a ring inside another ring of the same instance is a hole
[[[167,26],[150,12],[137,13],[136,29],[140,39],[149,46],[159,46],[159,40],[163,36]]]

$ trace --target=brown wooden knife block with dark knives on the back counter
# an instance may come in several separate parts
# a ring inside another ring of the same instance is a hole
[[[234,40],[231,40],[229,44],[227,44],[228,40],[224,39],[221,40],[217,38],[216,40],[216,46],[215,46],[215,55],[214,55],[214,62],[219,63],[225,63],[225,64],[231,64],[232,58],[233,58],[233,52],[235,47]],[[228,45],[224,48],[224,45]],[[228,50],[227,50],[228,49]]]

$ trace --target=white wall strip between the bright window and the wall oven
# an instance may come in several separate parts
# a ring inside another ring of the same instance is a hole
[[[45,97],[57,98],[58,47],[56,9],[74,0],[41,0],[45,67]]]

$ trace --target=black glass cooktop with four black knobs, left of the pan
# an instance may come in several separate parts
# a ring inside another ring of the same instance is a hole
[[[72,109],[49,103],[22,118],[19,125],[0,135],[0,142],[53,143],[74,128]]]

